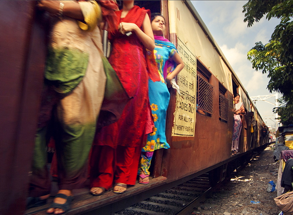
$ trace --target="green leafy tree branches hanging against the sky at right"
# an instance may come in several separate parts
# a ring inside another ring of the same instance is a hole
[[[267,73],[268,89],[283,95],[282,106],[274,111],[284,123],[291,120],[293,108],[293,1],[248,1],[243,6],[244,22],[251,27],[266,14],[266,19],[280,19],[267,44],[256,42],[248,53],[252,67]],[[291,109],[290,109],[291,108]],[[291,112],[290,112],[291,111]],[[286,114],[286,115],[282,115]],[[290,124],[290,123],[289,123]]]

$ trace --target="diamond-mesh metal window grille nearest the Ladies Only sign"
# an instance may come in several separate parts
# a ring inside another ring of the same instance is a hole
[[[213,112],[213,86],[197,75],[198,108],[210,114]]]

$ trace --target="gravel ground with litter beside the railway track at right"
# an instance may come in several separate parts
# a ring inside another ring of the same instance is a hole
[[[202,202],[192,214],[279,214],[273,199],[277,197],[277,191],[267,192],[268,182],[277,183],[278,177],[279,163],[275,163],[272,153],[269,146],[246,167],[236,170],[231,181]],[[259,203],[252,204],[251,201]]]

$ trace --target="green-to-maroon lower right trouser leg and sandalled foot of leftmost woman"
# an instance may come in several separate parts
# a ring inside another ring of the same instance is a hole
[[[56,197],[54,203],[64,205],[69,198],[72,198],[71,190],[83,187],[87,179],[88,153],[91,149],[95,126],[68,125],[60,122],[56,122],[55,125],[55,128],[59,130],[55,136],[58,194],[64,194],[67,198]],[[49,214],[64,212],[64,209],[57,207],[47,210]]]

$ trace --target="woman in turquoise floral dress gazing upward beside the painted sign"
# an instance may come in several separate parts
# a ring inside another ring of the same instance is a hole
[[[166,111],[168,109],[170,93],[166,83],[171,86],[171,80],[183,69],[184,63],[176,51],[176,47],[163,37],[165,19],[161,14],[151,16],[151,28],[155,38],[154,55],[158,65],[160,81],[149,80],[149,100],[154,119],[154,131],[147,137],[147,145],[142,148],[140,166],[138,170],[139,183],[149,183],[149,167],[156,149],[170,148],[166,140]]]

